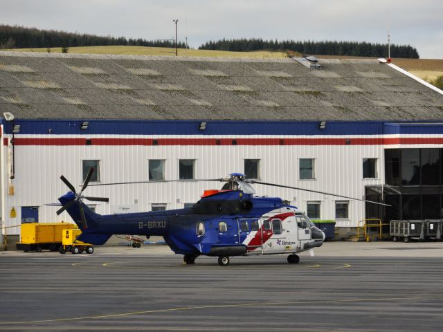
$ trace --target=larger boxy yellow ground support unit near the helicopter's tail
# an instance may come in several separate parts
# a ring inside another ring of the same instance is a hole
[[[43,249],[57,251],[62,244],[62,231],[77,228],[73,223],[22,223],[17,250],[41,252]]]

